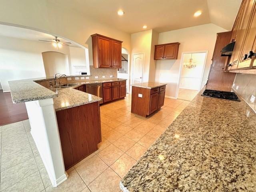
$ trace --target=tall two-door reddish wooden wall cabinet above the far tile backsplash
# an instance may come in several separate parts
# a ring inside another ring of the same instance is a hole
[[[122,68],[122,41],[93,34],[92,54],[94,68]]]

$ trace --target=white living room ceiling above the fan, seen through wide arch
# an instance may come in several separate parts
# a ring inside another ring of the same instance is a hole
[[[26,39],[26,40],[32,40],[32,41],[38,41],[38,40],[51,41],[52,39],[55,38],[53,35],[50,35],[50,34],[38,32],[35,30],[20,28],[20,27],[8,26],[8,25],[0,25],[0,36]],[[61,42],[70,42],[69,40],[66,40],[63,38],[58,37],[58,39]],[[40,42],[49,43],[49,42],[43,42],[43,41],[40,41]],[[70,46],[77,47],[74,43],[70,44]]]

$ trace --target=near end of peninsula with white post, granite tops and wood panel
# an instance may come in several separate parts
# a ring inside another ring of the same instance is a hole
[[[31,135],[52,185],[58,186],[67,179],[65,169],[98,149],[102,98],[73,88],[46,88],[38,80],[10,81],[9,86],[13,102],[26,104]]]

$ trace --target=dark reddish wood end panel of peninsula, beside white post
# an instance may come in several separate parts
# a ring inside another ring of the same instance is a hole
[[[56,112],[66,170],[98,150],[101,142],[99,102]]]

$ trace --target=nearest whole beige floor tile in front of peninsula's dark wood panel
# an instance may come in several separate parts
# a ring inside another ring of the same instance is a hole
[[[104,161],[102,161],[97,155],[95,155],[88,161],[78,166],[76,170],[84,182],[88,185],[104,170],[106,170],[106,168],[108,168],[108,165],[104,163]]]

